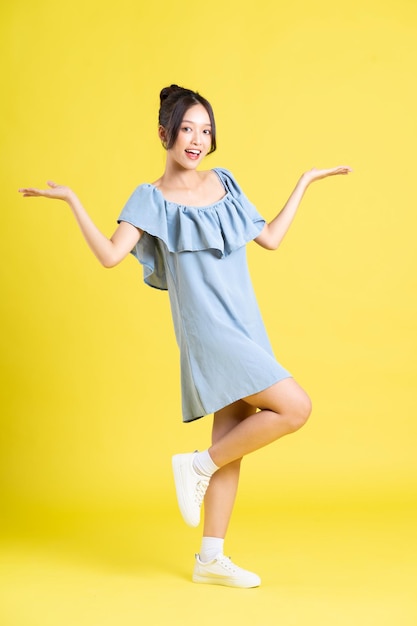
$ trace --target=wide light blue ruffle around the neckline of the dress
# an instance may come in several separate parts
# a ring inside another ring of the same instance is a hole
[[[213,171],[225,188],[223,198],[213,204],[194,207],[171,202],[157,187],[145,183],[135,189],[125,205],[118,221],[129,222],[143,231],[132,254],[144,266],[148,285],[167,289],[159,241],[171,253],[211,250],[221,258],[261,232],[265,220],[233,175],[222,168]]]

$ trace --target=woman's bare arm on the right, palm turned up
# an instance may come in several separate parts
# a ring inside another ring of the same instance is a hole
[[[338,167],[324,170],[313,168],[312,170],[305,172],[296,184],[294,191],[288,198],[284,208],[278,213],[272,222],[265,224],[260,235],[256,237],[256,243],[267,250],[276,250],[291,226],[307,187],[316,180],[321,180],[322,178],[327,178],[328,176],[349,174],[351,171],[350,167],[340,165]]]

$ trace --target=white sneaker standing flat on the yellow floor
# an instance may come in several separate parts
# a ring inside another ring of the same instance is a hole
[[[213,561],[202,563],[196,554],[193,582],[224,585],[226,587],[259,587],[261,579],[257,574],[238,567],[224,554],[218,554]]]

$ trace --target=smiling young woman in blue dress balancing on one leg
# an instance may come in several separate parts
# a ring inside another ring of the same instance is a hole
[[[105,267],[132,252],[145,282],[167,289],[180,348],[183,420],[214,414],[212,445],[177,454],[173,471],[180,511],[197,526],[204,500],[204,531],[193,581],[257,587],[256,574],[223,554],[242,458],[298,430],[310,415],[305,391],[274,358],[251,286],[245,246],[254,240],[275,250],[307,187],[348,174],[349,167],[312,169],[299,179],[286,205],[269,224],[225,169],[199,170],[216,149],[209,102],[177,85],[160,94],[159,138],[165,171],[131,195],[113,236],[91,221],[75,193],[48,182],[25,188],[27,197],[64,200],[83,236]]]

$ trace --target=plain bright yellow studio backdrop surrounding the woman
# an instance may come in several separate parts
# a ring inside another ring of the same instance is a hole
[[[415,624],[415,3],[15,0],[0,35],[2,624]],[[252,596],[188,584],[170,456],[206,447],[211,418],[181,423],[167,294],[133,258],[101,268],[64,204],[17,194],[68,184],[111,234],[162,173],[171,82],[211,101],[206,166],[268,219],[305,169],[355,170],[309,189],[278,252],[248,248],[314,405],[245,461],[228,545],[265,574]]]

